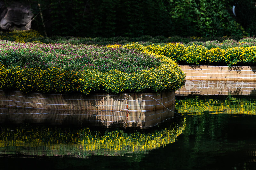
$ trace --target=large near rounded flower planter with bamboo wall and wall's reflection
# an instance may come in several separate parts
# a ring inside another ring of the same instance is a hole
[[[147,128],[174,115],[185,74],[168,57],[0,41],[1,121]]]

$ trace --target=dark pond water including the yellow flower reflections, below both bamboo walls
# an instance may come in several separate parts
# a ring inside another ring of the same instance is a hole
[[[255,96],[176,97],[146,130],[0,126],[0,169],[256,169]]]

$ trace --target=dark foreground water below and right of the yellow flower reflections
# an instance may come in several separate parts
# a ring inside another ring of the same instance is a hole
[[[207,99],[208,97],[199,96],[198,98]],[[210,96],[210,98],[214,97]],[[219,96],[219,99],[221,98],[227,98],[227,96]],[[240,96],[240,98],[246,97]],[[252,96],[249,99],[253,99]],[[184,121],[182,116],[177,118],[177,122],[169,122],[167,127],[154,127],[154,130],[169,129],[175,127],[179,120]],[[245,117],[241,117],[238,114],[186,115],[185,121],[185,130],[177,137],[174,143],[150,150],[148,153],[123,153],[115,156],[97,156],[92,154],[87,156],[86,159],[79,159],[73,158],[73,155],[46,157],[17,152],[17,154],[0,154],[0,164],[2,169],[28,169],[28,167],[32,167],[44,170],[255,169],[255,115]],[[154,132],[154,130],[136,130],[136,132],[148,134],[148,132]],[[135,130],[127,130],[126,132],[131,134]],[[66,136],[64,135],[63,138],[66,138]]]

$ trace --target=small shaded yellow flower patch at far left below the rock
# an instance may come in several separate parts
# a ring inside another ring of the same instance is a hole
[[[43,36],[35,30],[29,31],[12,31],[9,33],[1,33],[0,39],[1,40],[8,40],[8,41],[15,41],[20,43],[25,42],[37,42],[41,43],[38,38],[42,38]]]

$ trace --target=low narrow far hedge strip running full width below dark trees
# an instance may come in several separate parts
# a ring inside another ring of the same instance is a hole
[[[16,42],[41,42],[41,43],[71,43],[71,44],[87,44],[87,45],[108,45],[108,44],[128,44],[130,42],[140,42],[143,44],[152,43],[169,43],[180,42],[184,45],[203,45],[207,48],[211,47],[238,47],[242,45],[245,47],[255,46],[255,38],[244,38],[244,36],[232,36],[232,37],[181,37],[181,36],[155,36],[143,35],[139,37],[74,37],[74,36],[50,36],[44,37],[36,30],[29,31],[11,31],[0,32],[1,40],[16,41]],[[221,43],[221,44],[220,44]]]

